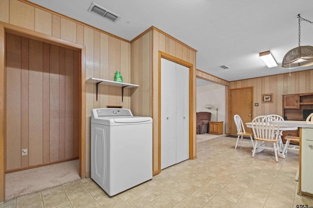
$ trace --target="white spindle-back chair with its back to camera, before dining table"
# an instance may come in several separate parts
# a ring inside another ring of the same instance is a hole
[[[274,125],[269,124],[269,121],[273,120],[276,119],[267,115],[260,115],[252,120],[251,125],[255,140],[252,157],[254,157],[256,148],[260,150],[273,150],[276,162],[278,162],[279,126],[275,128]],[[272,143],[273,147],[263,145],[265,142]]]

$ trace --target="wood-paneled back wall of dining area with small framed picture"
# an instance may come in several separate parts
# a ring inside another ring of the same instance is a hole
[[[253,117],[266,114],[283,114],[282,95],[295,93],[313,93],[313,70],[262,76],[229,82],[229,89],[253,87]],[[273,94],[272,103],[262,103],[262,94]]]

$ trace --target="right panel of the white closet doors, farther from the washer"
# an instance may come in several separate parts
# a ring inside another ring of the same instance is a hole
[[[189,68],[176,64],[176,163],[189,158]]]

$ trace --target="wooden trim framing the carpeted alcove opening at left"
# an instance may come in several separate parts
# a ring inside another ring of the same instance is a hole
[[[5,80],[5,33],[18,34],[50,44],[80,51],[80,115],[79,115],[79,175],[86,177],[86,47],[5,22],[0,22],[0,203],[5,199],[5,135],[6,135],[6,80]]]

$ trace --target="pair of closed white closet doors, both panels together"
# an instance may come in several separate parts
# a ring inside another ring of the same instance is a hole
[[[189,158],[189,68],[161,58],[161,169]]]

